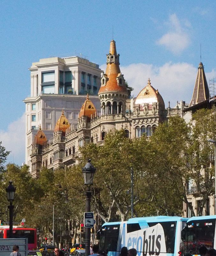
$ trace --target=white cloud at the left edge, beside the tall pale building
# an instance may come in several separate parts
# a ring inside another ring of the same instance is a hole
[[[7,163],[21,165],[25,161],[25,113],[8,125],[7,130],[0,130],[0,141],[6,150],[11,151]]]

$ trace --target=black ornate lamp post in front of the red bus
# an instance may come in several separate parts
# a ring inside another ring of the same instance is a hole
[[[11,180],[11,181],[9,181],[9,186],[6,188],[7,198],[10,203],[10,205],[8,205],[8,208],[9,208],[9,238],[12,238],[12,236],[13,236],[13,208],[14,208],[14,205],[12,203],[14,200],[15,191],[16,191],[16,188],[12,185],[12,180]]]

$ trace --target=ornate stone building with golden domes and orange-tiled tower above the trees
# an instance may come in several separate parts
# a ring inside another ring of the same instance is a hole
[[[97,111],[87,94],[86,101],[80,109],[77,124],[69,124],[62,111],[53,136],[47,140],[46,131],[41,129],[35,134],[31,150],[31,172],[37,178],[42,166],[47,168],[64,168],[76,163],[79,147],[90,141],[103,143],[107,132],[112,129],[123,129],[131,139],[146,133],[151,136],[160,122],[170,116],[179,115],[190,119],[190,112],[183,112],[188,106],[177,102],[175,108],[165,108],[159,91],[148,79],[147,85],[136,98],[130,99],[125,79],[119,67],[119,54],[115,41],[110,42],[107,54],[107,69],[101,77],[98,97],[101,111]]]

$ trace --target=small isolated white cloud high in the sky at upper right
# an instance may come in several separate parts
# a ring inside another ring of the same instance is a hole
[[[164,45],[169,51],[178,54],[190,44],[189,34],[183,28],[183,25],[180,24],[175,13],[169,16],[169,22],[166,25],[169,27],[169,31],[157,40],[156,43]],[[190,27],[190,23],[187,20],[184,21],[184,27]]]

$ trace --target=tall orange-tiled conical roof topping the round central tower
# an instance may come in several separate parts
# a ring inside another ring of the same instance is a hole
[[[116,52],[114,40],[110,42],[109,54],[107,54],[107,56],[109,61],[104,75],[107,76],[108,81],[105,85],[101,84],[98,94],[103,92],[122,92],[127,94],[128,91],[125,85],[119,85],[116,79],[122,74],[119,68],[119,54]]]

